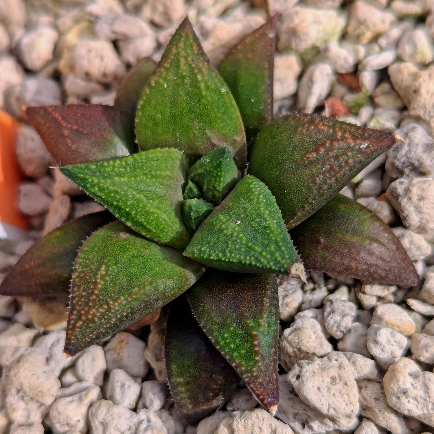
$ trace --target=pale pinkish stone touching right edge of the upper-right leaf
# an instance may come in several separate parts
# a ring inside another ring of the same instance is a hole
[[[273,98],[287,98],[297,92],[298,76],[302,66],[293,53],[277,53],[274,56]]]

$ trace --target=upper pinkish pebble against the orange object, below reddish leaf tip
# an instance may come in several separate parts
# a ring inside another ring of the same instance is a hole
[[[30,125],[19,125],[15,151],[23,174],[39,178],[46,173],[51,156],[38,133]]]

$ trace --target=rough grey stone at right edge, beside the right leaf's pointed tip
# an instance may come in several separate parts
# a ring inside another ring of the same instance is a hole
[[[386,172],[392,178],[403,175],[434,177],[434,138],[417,122],[405,122],[396,131],[403,139],[387,151]]]

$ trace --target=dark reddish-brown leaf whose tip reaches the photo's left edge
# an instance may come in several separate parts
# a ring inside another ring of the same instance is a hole
[[[47,233],[10,270],[0,285],[5,296],[69,294],[77,250],[94,230],[113,221],[107,211],[87,214]]]

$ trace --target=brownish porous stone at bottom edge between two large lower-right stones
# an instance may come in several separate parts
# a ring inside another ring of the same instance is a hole
[[[382,384],[374,380],[359,380],[357,384],[362,416],[392,434],[411,434],[402,414],[389,406]]]

